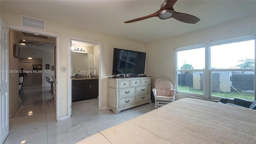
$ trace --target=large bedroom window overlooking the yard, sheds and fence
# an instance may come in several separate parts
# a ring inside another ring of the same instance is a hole
[[[255,38],[176,49],[178,94],[255,100]]]

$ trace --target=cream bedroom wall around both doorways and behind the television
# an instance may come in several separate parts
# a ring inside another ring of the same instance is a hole
[[[34,13],[26,12],[14,12],[10,10],[3,10],[1,8],[1,18],[6,24],[11,24],[15,26],[20,26],[20,14],[25,14],[35,18],[41,18],[39,15],[34,15]],[[42,18],[41,18],[42,19]],[[113,59],[113,48],[122,48],[128,50],[136,50],[140,52],[146,52],[146,44],[141,42],[136,42],[133,40],[128,40],[125,38],[120,38],[117,36],[112,36],[109,34],[102,34],[99,32],[91,32],[89,30],[78,29],[72,26],[64,26],[58,21],[50,21],[46,19],[46,31],[56,34],[60,34],[60,66],[68,68],[68,52],[70,51],[70,45],[68,45],[68,36],[74,36],[78,38],[84,38],[88,40],[94,40],[103,43],[103,88],[102,88],[102,106],[108,106],[108,77],[112,76],[112,59]],[[68,71],[68,70],[66,70]],[[145,69],[146,74],[146,69]],[[68,115],[68,81],[70,81],[67,72],[60,73],[60,117]]]

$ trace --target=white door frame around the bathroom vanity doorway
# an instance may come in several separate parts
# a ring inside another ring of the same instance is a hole
[[[90,43],[90,44],[96,44],[99,46],[99,70],[98,70],[98,75],[99,75],[99,110],[103,110],[103,67],[102,67],[102,63],[103,63],[103,54],[102,54],[102,42],[98,42],[98,41],[94,41],[94,40],[88,40],[88,39],[84,39],[84,38],[77,38],[74,36],[68,36],[68,77],[70,77],[70,80],[68,80],[68,106],[70,106],[70,108],[68,108],[68,115],[71,115],[71,98],[72,98],[72,91],[71,91],[71,87],[72,87],[72,80],[71,80],[71,40],[75,40],[75,41],[79,41],[79,42],[86,42],[86,43]]]

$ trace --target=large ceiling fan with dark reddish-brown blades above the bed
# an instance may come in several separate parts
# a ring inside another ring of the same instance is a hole
[[[176,12],[173,8],[173,5],[176,2],[177,0],[165,0],[164,3],[161,5],[160,10],[158,10],[157,12],[150,14],[148,16],[143,16],[133,20],[128,20],[124,23],[137,22],[137,21],[145,20],[147,18],[152,18],[152,17],[159,17],[162,20],[165,20],[168,18],[174,18],[176,20],[179,20],[180,22],[185,22],[189,24],[196,24],[197,22],[199,22],[200,19],[197,18],[196,16]]]

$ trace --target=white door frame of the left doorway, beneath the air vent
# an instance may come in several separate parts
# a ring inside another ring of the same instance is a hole
[[[14,26],[14,25],[8,25],[10,30],[16,30],[19,32],[28,32],[28,33],[36,33],[36,34],[40,34],[40,35],[44,35],[44,36],[50,36],[50,37],[54,37],[56,38],[56,68],[55,70],[57,70],[57,76],[56,76],[56,86],[55,86],[55,90],[56,90],[56,120],[60,121],[60,120],[65,120],[68,119],[68,116],[60,116],[60,82],[58,82],[58,80],[60,80],[60,34],[55,34],[52,32],[45,32],[45,31],[41,31],[41,30],[35,30],[32,28],[24,28],[21,26]],[[69,109],[69,108],[68,108]]]

